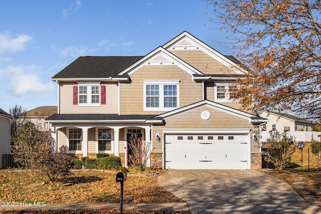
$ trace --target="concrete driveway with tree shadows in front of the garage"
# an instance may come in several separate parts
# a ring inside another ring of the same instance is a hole
[[[193,214],[321,213],[283,180],[254,170],[166,170],[158,182]]]

